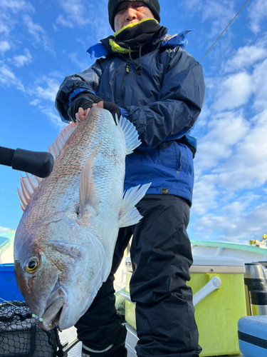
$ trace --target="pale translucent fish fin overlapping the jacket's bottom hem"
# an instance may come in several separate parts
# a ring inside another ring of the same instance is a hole
[[[150,183],[145,185],[135,186],[129,188],[123,195],[122,203],[120,205],[120,228],[132,226],[140,221],[142,216],[138,212],[135,205],[145,196],[147,189],[150,187]]]

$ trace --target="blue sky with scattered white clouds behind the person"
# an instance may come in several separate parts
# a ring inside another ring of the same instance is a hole
[[[169,34],[195,29],[200,61],[245,0],[159,0]],[[87,69],[89,46],[112,34],[108,0],[0,1],[0,146],[47,151],[64,125],[53,101],[64,77]],[[250,0],[201,62],[206,103],[198,140],[192,239],[267,233],[267,2]],[[21,218],[19,171],[0,166],[0,233]]]

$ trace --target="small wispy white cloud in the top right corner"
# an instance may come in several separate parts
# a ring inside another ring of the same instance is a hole
[[[261,31],[261,24],[267,20],[267,2],[266,0],[253,1],[248,8],[248,16],[251,19],[250,29],[253,34]]]

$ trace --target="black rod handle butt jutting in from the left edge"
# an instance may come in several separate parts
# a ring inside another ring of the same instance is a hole
[[[54,159],[48,152],[8,149],[0,146],[0,165],[28,172],[41,178],[48,177],[53,170]]]

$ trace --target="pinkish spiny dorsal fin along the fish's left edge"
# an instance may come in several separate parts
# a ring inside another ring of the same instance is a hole
[[[73,131],[75,131],[77,125],[78,124],[74,124],[74,123],[68,124],[68,126],[66,126],[61,131],[61,133],[58,135],[58,137],[55,139],[52,145],[48,147],[48,151],[50,152],[50,154],[53,155],[54,160],[61,152],[68,138],[71,136],[71,134],[73,134]],[[20,205],[22,211],[25,211],[26,207],[28,206],[28,201],[30,201],[31,195],[36,190],[38,184],[41,181],[42,178],[39,178],[34,175],[31,175],[31,177],[28,177],[28,174],[26,174],[26,177],[21,176],[21,189],[18,188],[18,193],[22,203]]]

